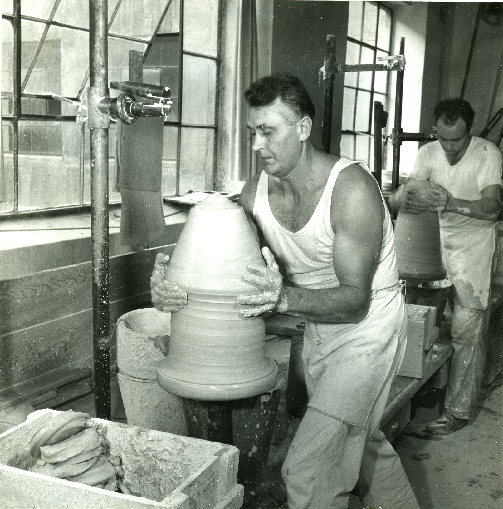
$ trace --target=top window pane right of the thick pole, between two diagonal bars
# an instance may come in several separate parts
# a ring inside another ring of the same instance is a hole
[[[152,39],[167,3],[168,0],[122,0],[110,34]]]

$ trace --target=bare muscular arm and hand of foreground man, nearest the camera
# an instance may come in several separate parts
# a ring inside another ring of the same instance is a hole
[[[257,296],[238,298],[256,308],[242,310],[256,316],[276,309],[302,313],[320,322],[362,321],[368,313],[372,278],[381,244],[384,206],[373,177],[358,165],[345,168],[332,194],[332,227],[335,232],[333,261],[338,288],[310,290],[282,285],[270,252],[264,252],[268,267],[252,267],[243,280],[263,290]]]

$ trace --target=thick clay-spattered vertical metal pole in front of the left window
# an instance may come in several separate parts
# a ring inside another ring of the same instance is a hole
[[[110,418],[110,288],[108,245],[108,118],[98,102],[108,96],[108,0],[89,0],[87,122],[91,129],[91,241],[95,416]]]

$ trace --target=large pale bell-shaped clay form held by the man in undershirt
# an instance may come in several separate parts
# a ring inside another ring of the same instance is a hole
[[[221,194],[193,207],[166,271],[187,292],[171,315],[169,354],[157,367],[165,390],[196,400],[248,398],[276,383],[265,356],[263,318],[244,318],[238,295],[260,293],[241,281],[246,266],[264,265],[244,210]]]

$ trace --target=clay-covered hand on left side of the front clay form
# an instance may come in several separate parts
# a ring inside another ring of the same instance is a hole
[[[166,279],[169,254],[157,253],[154,272],[150,278],[152,303],[158,311],[174,313],[187,305],[187,294]]]

